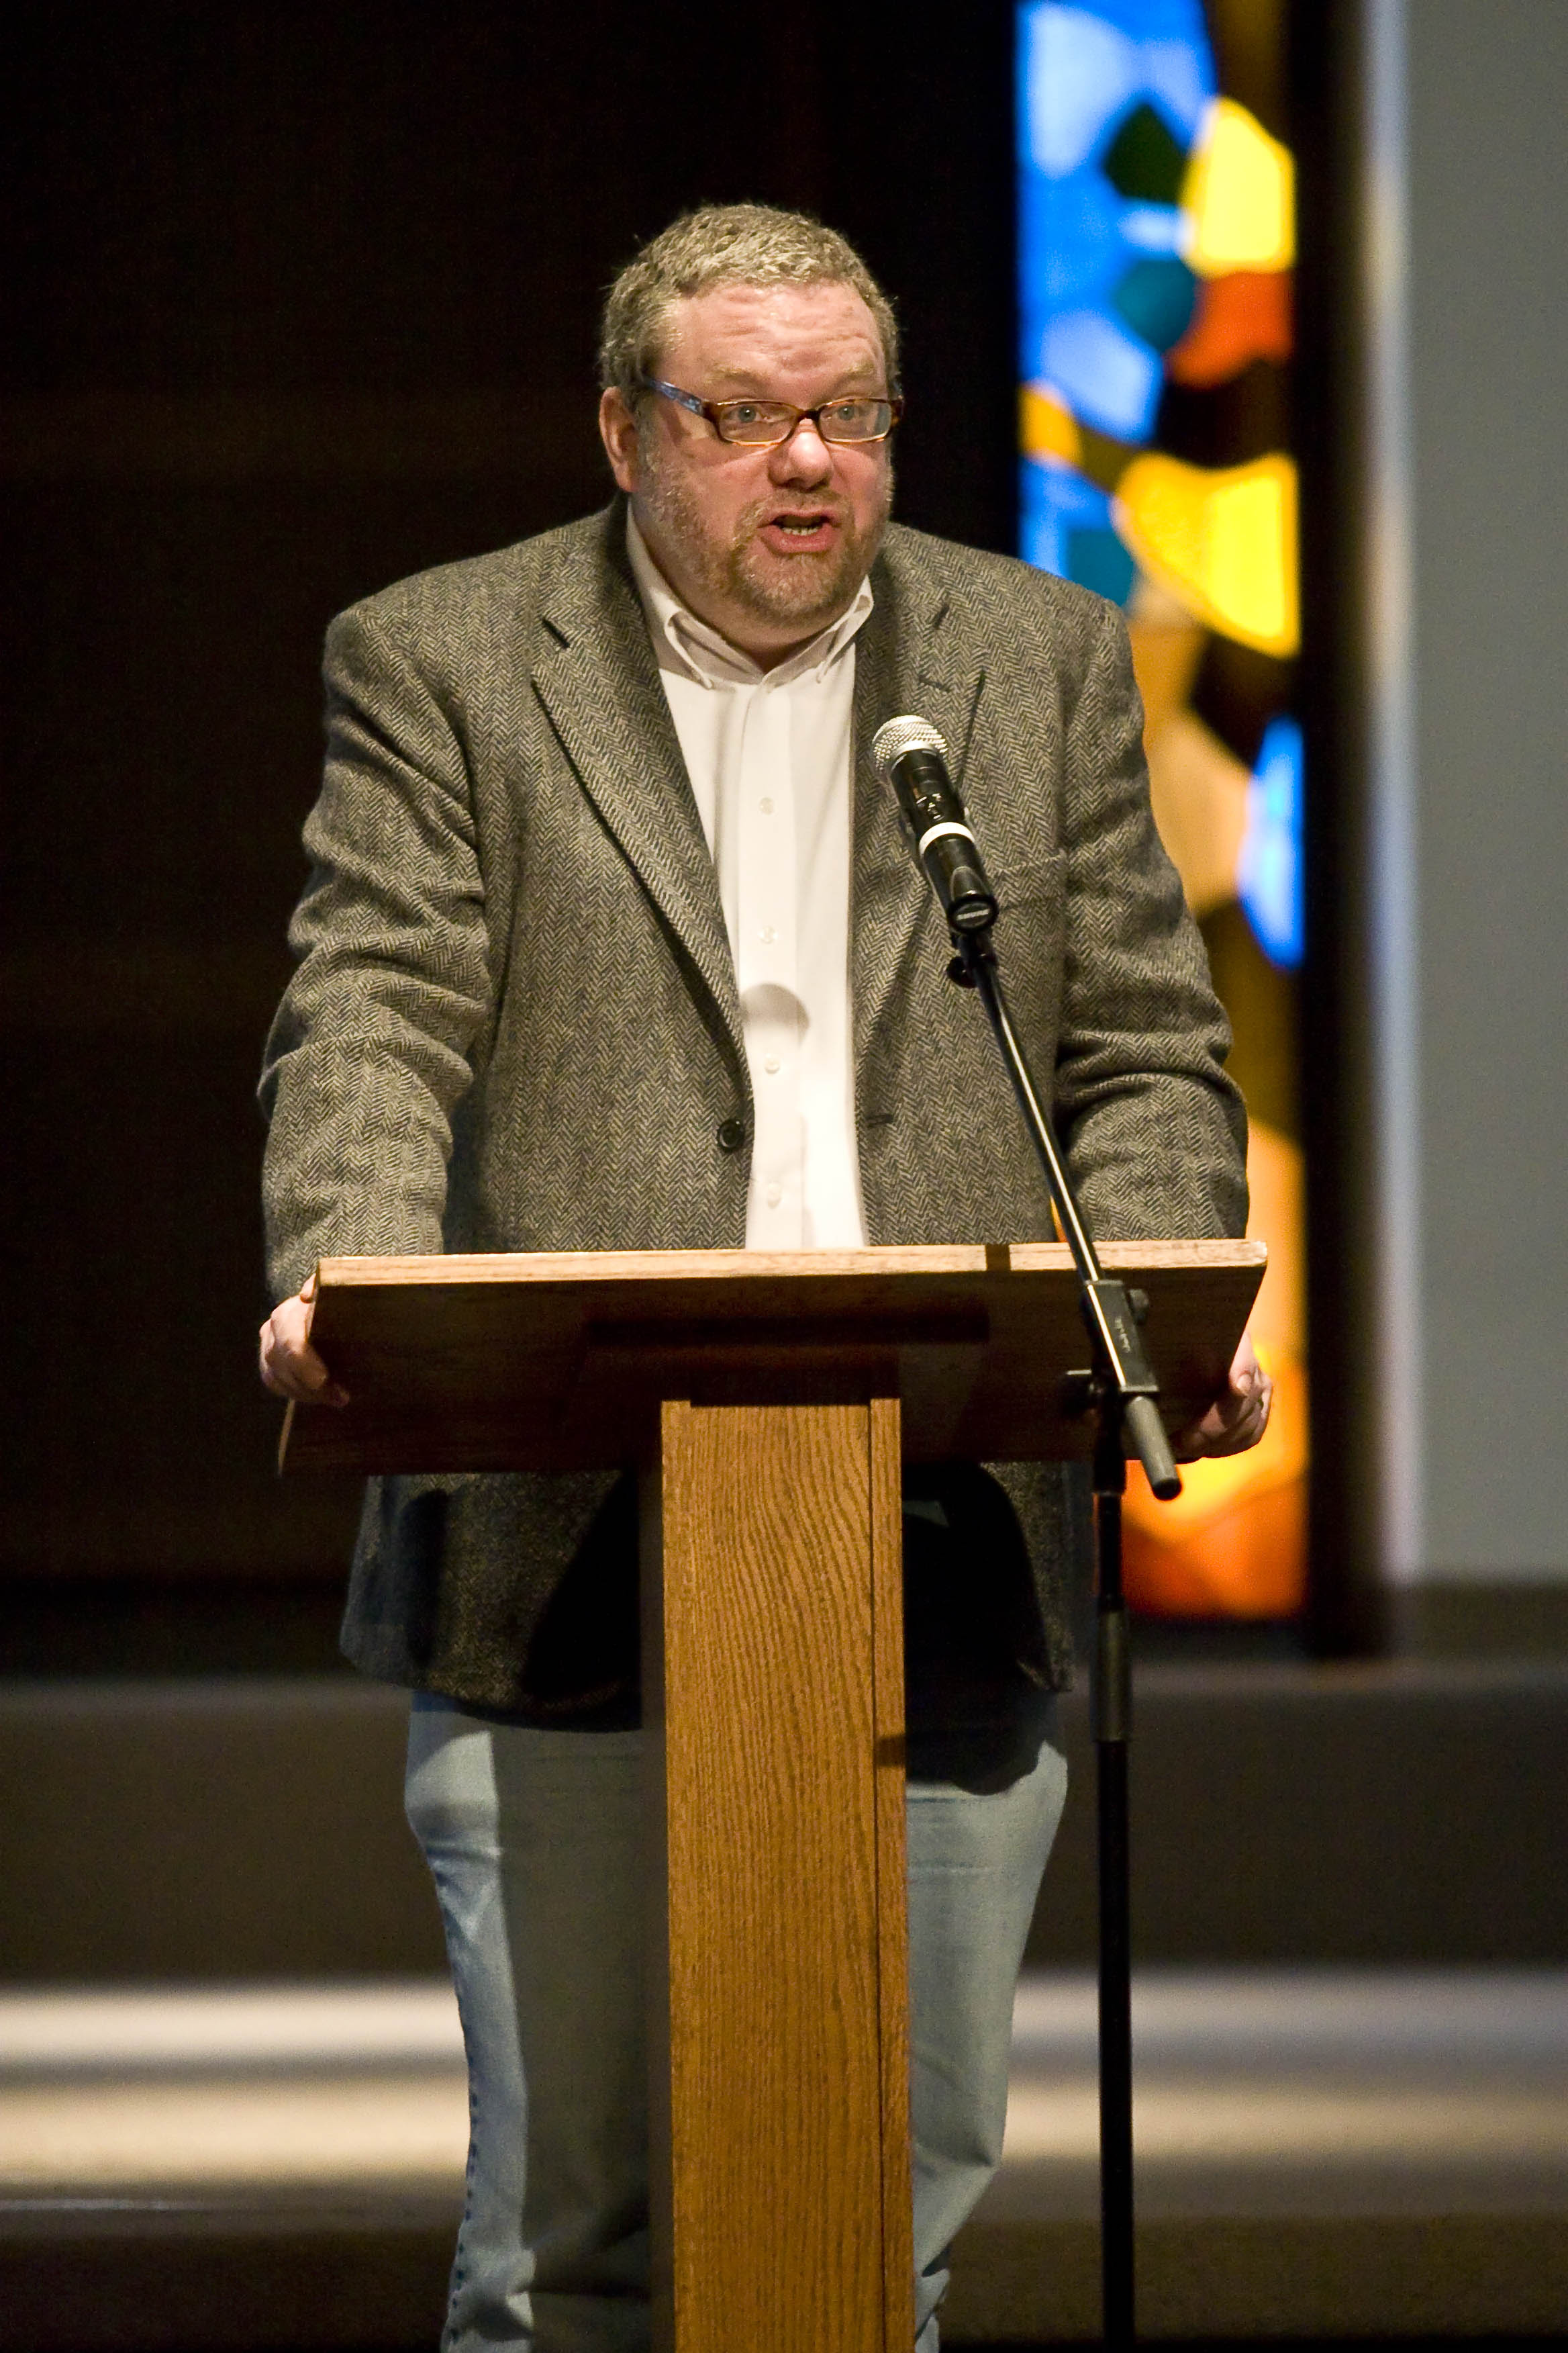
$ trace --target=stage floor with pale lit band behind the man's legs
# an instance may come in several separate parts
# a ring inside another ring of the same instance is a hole
[[[1568,2327],[1568,1972],[1159,1969],[1133,2033],[1147,2334]],[[465,2132],[442,1984],[5,1993],[7,2344],[430,2341]],[[947,2339],[1091,2337],[1095,2200],[1093,1984],[1030,1974]]]

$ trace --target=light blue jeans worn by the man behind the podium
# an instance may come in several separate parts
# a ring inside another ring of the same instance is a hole
[[[912,1758],[917,2353],[936,2353],[947,2245],[1001,2160],[1013,1984],[1067,1793],[1048,1701],[1011,1746],[999,1772],[959,1737]],[[444,2353],[646,2353],[639,1755],[639,1732],[414,1701],[407,1809],[468,2049]]]

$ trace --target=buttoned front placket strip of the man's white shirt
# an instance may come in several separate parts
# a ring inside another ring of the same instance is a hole
[[[748,696],[738,793],[741,1012],[757,1129],[748,1245],[802,1247],[799,915],[790,692]]]

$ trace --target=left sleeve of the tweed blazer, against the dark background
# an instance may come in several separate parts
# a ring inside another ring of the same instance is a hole
[[[261,1071],[275,1297],[320,1257],[442,1247],[454,1111],[489,1002],[484,887],[449,699],[357,607],[327,635],[327,772],[299,967]]]

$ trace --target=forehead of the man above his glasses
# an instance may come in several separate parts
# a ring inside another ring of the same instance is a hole
[[[661,341],[661,369],[675,384],[715,393],[832,391],[844,376],[882,384],[882,336],[865,301],[846,285],[710,287],[682,294]]]

